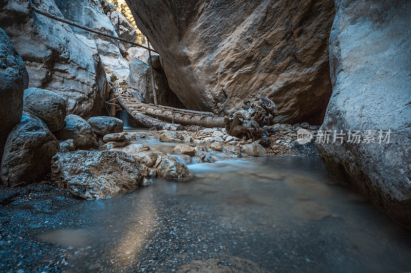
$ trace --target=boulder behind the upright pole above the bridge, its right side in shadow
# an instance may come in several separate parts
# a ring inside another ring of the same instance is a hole
[[[158,56],[157,56],[158,58]],[[157,59],[158,60],[158,59]],[[154,57],[153,57],[154,62]],[[176,108],[184,108],[184,105],[176,94],[171,91],[169,82],[164,74],[162,67],[153,69],[144,61],[133,58],[129,63],[130,74],[128,75],[128,84],[141,92],[145,103],[154,103],[153,85],[151,71],[153,70],[154,85],[157,89],[157,102],[161,105]]]

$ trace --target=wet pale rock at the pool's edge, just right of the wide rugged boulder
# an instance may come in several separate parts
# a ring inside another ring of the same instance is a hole
[[[156,167],[158,175],[163,178],[181,179],[192,175],[187,166],[164,154],[158,155]]]

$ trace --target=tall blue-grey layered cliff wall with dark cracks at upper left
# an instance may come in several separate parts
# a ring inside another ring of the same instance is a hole
[[[0,27],[25,62],[29,87],[65,97],[69,114],[99,115],[109,89],[96,43],[76,35],[64,23],[33,12],[30,3],[13,0],[0,5]],[[36,6],[63,17],[53,0]]]

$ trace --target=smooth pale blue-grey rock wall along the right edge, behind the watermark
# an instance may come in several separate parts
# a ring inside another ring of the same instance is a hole
[[[342,144],[318,143],[319,154],[333,178],[358,186],[391,218],[411,226],[411,3],[336,4],[333,92],[320,129],[377,132],[368,132],[370,143],[348,142],[347,135]],[[389,143],[379,143],[378,130],[391,130]]]

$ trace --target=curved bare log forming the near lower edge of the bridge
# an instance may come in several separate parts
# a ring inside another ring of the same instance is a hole
[[[161,120],[149,117],[143,113],[139,113],[138,111],[134,109],[130,109],[128,108],[127,103],[124,101],[124,99],[121,96],[119,96],[117,93],[115,95],[117,97],[117,102],[120,104],[120,106],[130,116],[132,116],[136,121],[140,122],[146,127],[155,128],[157,130],[170,130],[170,131],[176,131],[176,130],[183,129],[183,127],[180,124],[173,124],[173,123],[161,121]]]

